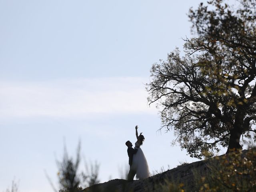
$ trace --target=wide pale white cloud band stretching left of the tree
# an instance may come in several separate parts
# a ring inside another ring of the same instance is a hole
[[[144,78],[88,78],[0,82],[1,118],[73,117],[155,113]]]

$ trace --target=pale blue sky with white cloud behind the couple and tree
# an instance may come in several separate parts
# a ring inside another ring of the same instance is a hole
[[[195,162],[148,106],[152,64],[192,37],[190,7],[206,0],[0,0],[0,192],[53,191],[66,144],[100,164],[100,182],[128,167],[143,132],[151,172]],[[223,153],[223,152],[222,152]]]

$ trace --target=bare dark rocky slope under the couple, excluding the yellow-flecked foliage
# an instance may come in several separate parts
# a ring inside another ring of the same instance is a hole
[[[248,150],[243,150],[241,155],[243,156],[247,151]],[[162,191],[161,185],[166,181],[174,183],[177,186],[182,183],[186,186],[186,189],[194,191],[195,173],[200,176],[206,175],[208,172],[208,162],[214,161],[218,164],[220,159],[226,158],[225,155],[222,156],[218,156],[210,160],[201,160],[190,164],[184,164],[143,180],[135,180],[133,182],[127,182],[123,179],[110,180],[105,183],[85,188],[82,192],[160,192]]]

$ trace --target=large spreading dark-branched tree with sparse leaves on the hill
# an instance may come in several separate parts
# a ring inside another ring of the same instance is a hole
[[[236,8],[222,0],[190,10],[198,37],[184,39],[166,61],[152,65],[149,104],[157,103],[162,128],[174,130],[192,157],[239,150],[241,136],[256,141],[256,4],[241,0]]]

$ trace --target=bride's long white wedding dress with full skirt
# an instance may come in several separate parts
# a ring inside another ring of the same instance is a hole
[[[148,178],[150,177],[148,162],[138,142],[135,143],[135,147],[138,148],[138,151],[136,152],[136,154],[133,155],[132,166],[134,166],[136,170],[136,178]]]

